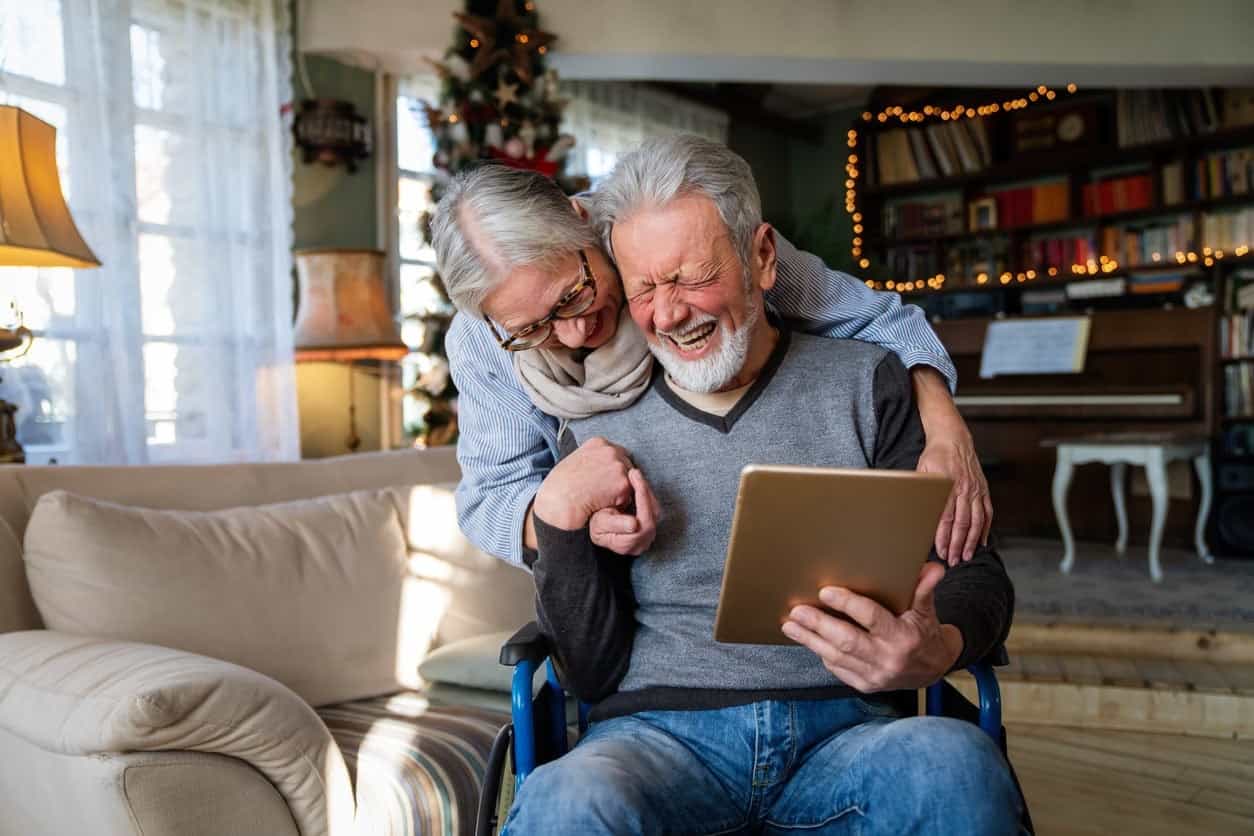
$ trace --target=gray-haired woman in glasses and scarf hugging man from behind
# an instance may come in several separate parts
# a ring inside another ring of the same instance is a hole
[[[477,545],[514,563],[535,546],[530,503],[556,460],[559,419],[621,409],[648,377],[643,346],[633,353],[622,345],[636,337],[618,327],[617,273],[579,212],[552,180],[484,167],[453,180],[433,222],[440,272],[463,312],[446,340],[461,430],[458,516]],[[954,382],[953,365],[922,312],[767,234],[779,285],[766,298],[781,316],[805,331],[882,345],[910,367],[927,431],[918,469],[954,480],[937,550],[951,563],[969,558],[992,506],[946,384]],[[574,288],[581,293],[567,298]],[[614,509],[598,513],[592,531],[619,554],[638,554],[653,536],[647,520]]]

